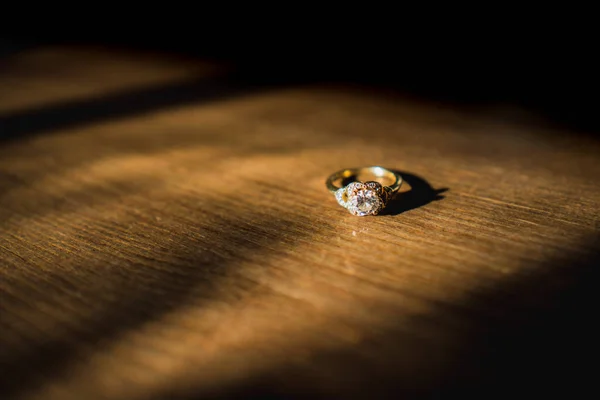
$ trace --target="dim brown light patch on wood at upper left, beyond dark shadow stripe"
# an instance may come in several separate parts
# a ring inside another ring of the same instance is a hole
[[[0,83],[0,115],[225,72],[210,63],[101,48],[63,47],[19,54],[3,61],[2,68],[5,75],[21,79],[4,79]]]

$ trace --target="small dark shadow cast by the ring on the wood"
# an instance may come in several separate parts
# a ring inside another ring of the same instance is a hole
[[[403,212],[423,207],[432,201],[444,199],[442,193],[447,192],[448,188],[434,189],[427,180],[409,172],[390,169],[390,171],[399,174],[403,179],[403,185],[408,184],[410,190],[397,193],[392,197],[387,206],[379,215],[398,215]],[[351,176],[342,182],[344,186],[350,182],[356,181],[356,177]]]

